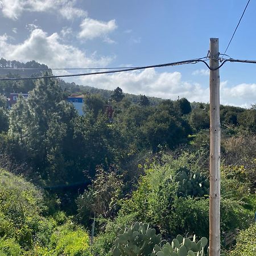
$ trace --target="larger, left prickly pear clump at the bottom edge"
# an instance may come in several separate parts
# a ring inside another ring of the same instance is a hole
[[[162,236],[156,236],[155,229],[151,229],[148,224],[135,222],[131,228],[119,230],[117,239],[112,248],[114,256],[121,255],[151,255],[154,246],[160,246]]]

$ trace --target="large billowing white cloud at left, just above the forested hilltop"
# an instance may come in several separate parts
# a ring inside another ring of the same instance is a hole
[[[52,68],[64,67],[104,67],[112,57],[87,56],[84,51],[61,43],[57,33],[47,35],[41,29],[33,30],[27,40],[20,44],[9,43],[8,36],[0,36],[0,56],[8,60],[36,60]]]

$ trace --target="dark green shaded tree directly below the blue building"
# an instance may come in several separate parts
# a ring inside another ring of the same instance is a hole
[[[108,125],[105,114],[98,114],[95,118],[92,111],[77,117],[74,125],[73,143],[76,143],[77,149],[74,157],[79,159],[79,169],[93,178],[98,165],[107,167],[113,163],[114,151],[119,154],[117,148],[113,147],[112,127]]]

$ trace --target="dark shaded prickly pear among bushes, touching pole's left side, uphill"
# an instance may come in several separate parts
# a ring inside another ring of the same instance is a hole
[[[179,186],[178,196],[209,195],[209,180],[201,172],[191,172],[187,168],[180,168],[175,181]]]

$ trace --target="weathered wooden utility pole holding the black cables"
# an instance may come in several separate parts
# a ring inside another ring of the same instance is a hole
[[[218,38],[210,38],[210,68],[218,68]],[[210,70],[209,255],[220,256],[220,73]]]

